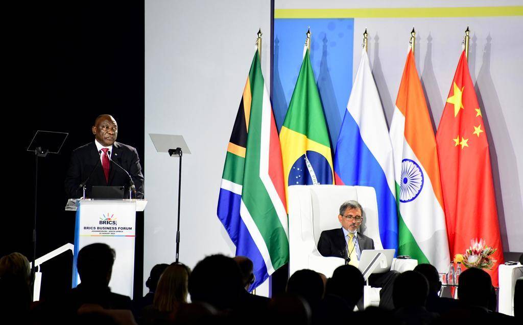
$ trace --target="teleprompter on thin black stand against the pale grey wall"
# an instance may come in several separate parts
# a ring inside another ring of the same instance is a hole
[[[167,152],[170,157],[180,158],[178,171],[178,220],[176,228],[176,262],[178,262],[180,255],[181,156],[183,153],[190,154],[191,152],[183,136],[151,133],[149,136],[157,152]]]

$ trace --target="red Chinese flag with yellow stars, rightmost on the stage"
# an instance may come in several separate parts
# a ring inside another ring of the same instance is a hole
[[[449,250],[452,259],[465,253],[471,239],[483,238],[486,246],[497,249],[492,255],[497,262],[485,270],[497,286],[503,247],[481,114],[463,51],[436,133]]]

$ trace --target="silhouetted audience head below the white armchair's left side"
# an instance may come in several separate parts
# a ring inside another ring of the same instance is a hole
[[[287,282],[287,293],[302,297],[311,308],[320,302],[324,291],[320,274],[313,270],[296,271]]]

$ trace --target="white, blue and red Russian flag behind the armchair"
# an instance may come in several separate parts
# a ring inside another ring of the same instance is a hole
[[[336,146],[335,180],[336,185],[374,187],[378,201],[381,246],[396,249],[397,253],[398,225],[392,152],[369,57],[362,50]]]

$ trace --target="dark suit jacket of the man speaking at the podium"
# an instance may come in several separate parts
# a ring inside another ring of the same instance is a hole
[[[142,167],[140,166],[140,159],[138,152],[131,146],[124,145],[120,142],[115,142],[112,145],[111,160],[122,166],[132,177],[134,185],[136,186],[137,198],[143,198],[143,175]],[[109,169],[109,182],[105,179],[104,170],[101,166],[100,154],[96,149],[94,141],[87,143],[82,147],[76,148],[71,155],[71,163],[69,170],[65,176],[65,191],[69,198],[82,197],[82,189],[78,186],[84,182],[93,170],[95,171],[89,177],[86,184],[86,196],[90,196],[92,186],[125,186],[126,193],[129,190],[129,176],[124,173],[118,166],[111,163]]]

